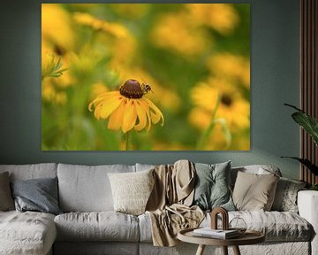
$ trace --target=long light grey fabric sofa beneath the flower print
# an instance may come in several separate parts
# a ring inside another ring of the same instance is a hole
[[[0,254],[195,254],[196,245],[152,245],[147,214],[133,216],[113,211],[108,173],[149,169],[136,164],[79,166],[67,164],[0,165],[11,181],[34,178],[58,179],[59,206],[64,213],[0,212]],[[254,173],[254,166],[246,166]],[[232,169],[232,178],[235,171]],[[234,176],[234,177],[233,177]],[[290,212],[230,212],[248,228],[262,231],[266,242],[241,246],[242,254],[318,254],[318,192],[299,191],[299,214]],[[209,225],[209,214],[201,226]],[[207,247],[205,251],[221,250]],[[231,254],[231,249],[229,249]],[[213,253],[214,254],[214,253]]]

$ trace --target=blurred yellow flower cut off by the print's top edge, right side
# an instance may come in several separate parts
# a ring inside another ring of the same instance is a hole
[[[212,27],[223,35],[230,34],[239,23],[239,15],[231,4],[186,4],[193,23]]]

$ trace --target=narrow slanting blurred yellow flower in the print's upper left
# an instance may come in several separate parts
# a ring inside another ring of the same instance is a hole
[[[75,12],[73,17],[80,25],[92,27],[96,31],[102,31],[117,38],[125,38],[129,35],[127,28],[120,23],[97,19],[88,13],[82,12]]]

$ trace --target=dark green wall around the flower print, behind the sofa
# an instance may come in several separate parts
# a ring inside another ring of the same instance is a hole
[[[234,166],[271,164],[286,177],[299,177],[299,165],[280,158],[299,155],[299,129],[290,117],[292,111],[284,106],[299,104],[298,0],[223,1],[250,3],[252,11],[252,150],[243,152],[41,151],[41,4],[12,2],[3,0],[0,8],[0,164],[133,165],[180,158],[204,163],[231,159]]]

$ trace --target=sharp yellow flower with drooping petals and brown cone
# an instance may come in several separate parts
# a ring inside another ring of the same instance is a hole
[[[104,93],[88,105],[97,120],[108,120],[107,128],[126,133],[131,129],[149,130],[151,123],[162,120],[163,113],[147,97],[139,81],[128,80],[119,91]],[[95,108],[93,110],[93,108]]]

